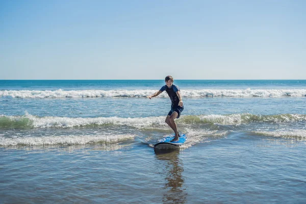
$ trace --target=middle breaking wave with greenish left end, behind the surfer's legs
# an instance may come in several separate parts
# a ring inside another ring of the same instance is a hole
[[[303,114],[279,114],[279,115],[253,115],[248,113],[231,115],[187,115],[177,119],[176,122],[183,125],[192,124],[221,124],[239,125],[248,123],[290,123],[305,122]],[[138,129],[167,126],[165,117],[96,117],[96,118],[70,118],[58,116],[6,116],[0,115],[0,129],[27,129],[45,127],[96,127],[96,126],[131,126]]]

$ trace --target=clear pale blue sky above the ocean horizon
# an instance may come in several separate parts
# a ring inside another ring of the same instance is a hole
[[[306,79],[306,1],[0,0],[0,79]]]

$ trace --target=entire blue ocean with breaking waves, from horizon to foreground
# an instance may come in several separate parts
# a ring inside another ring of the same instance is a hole
[[[1,203],[305,203],[306,80],[1,80]]]

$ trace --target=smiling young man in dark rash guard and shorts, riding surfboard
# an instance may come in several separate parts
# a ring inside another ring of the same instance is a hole
[[[174,80],[171,76],[167,76],[165,78],[165,83],[159,91],[154,94],[147,96],[147,98],[156,97],[161,94],[163,91],[166,91],[171,99],[171,110],[169,111],[165,122],[171,127],[174,131],[174,138],[171,142],[175,142],[179,140],[179,132],[177,131],[177,126],[174,121],[175,118],[179,118],[181,116],[182,111],[184,110],[182,95],[180,93],[180,88],[173,84]]]

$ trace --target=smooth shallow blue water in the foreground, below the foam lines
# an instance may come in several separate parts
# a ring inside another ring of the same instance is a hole
[[[172,152],[135,141],[2,148],[1,197],[12,203],[302,203],[304,147],[236,133]]]

